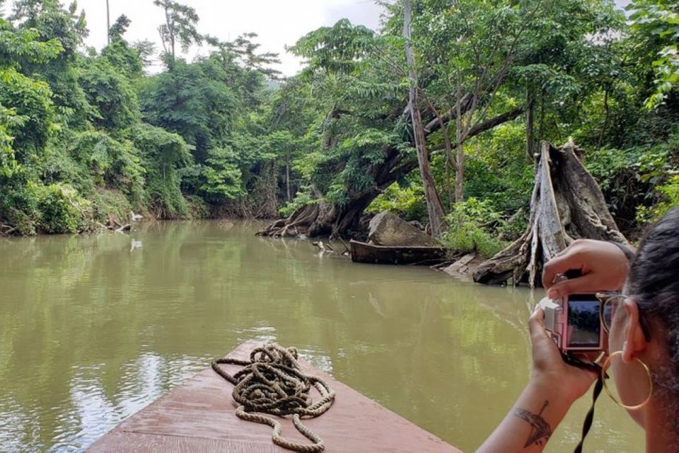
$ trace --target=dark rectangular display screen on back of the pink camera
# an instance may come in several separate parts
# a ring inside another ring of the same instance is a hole
[[[599,345],[601,323],[596,297],[589,294],[569,297],[568,328],[570,348],[596,348]]]

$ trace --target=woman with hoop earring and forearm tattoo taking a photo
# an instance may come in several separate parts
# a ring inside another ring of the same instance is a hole
[[[552,286],[557,274],[581,277]],[[608,363],[617,403],[646,431],[646,452],[679,451],[679,208],[646,235],[631,265],[624,247],[576,241],[545,265],[543,283],[552,298],[606,294],[612,316],[605,326]],[[571,404],[596,373],[567,365],[547,338],[544,313],[530,317],[533,371],[526,389],[478,452],[541,452]]]

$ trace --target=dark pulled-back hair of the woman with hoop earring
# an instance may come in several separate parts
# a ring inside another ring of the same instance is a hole
[[[651,326],[651,338],[663,340],[668,362],[654,370],[654,381],[667,396],[668,410],[679,405],[679,207],[651,227],[632,261],[627,294],[633,297]],[[675,430],[679,428],[675,427]]]

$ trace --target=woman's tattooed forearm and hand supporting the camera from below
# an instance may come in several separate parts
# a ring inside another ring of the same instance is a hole
[[[545,314],[536,306],[530,316],[533,372],[526,389],[477,453],[542,452],[571,404],[591,386],[596,374],[571,367],[547,336]]]

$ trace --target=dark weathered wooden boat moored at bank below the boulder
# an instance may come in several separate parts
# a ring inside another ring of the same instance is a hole
[[[352,261],[371,264],[434,265],[446,260],[446,249],[430,246],[376,246],[349,241]]]

